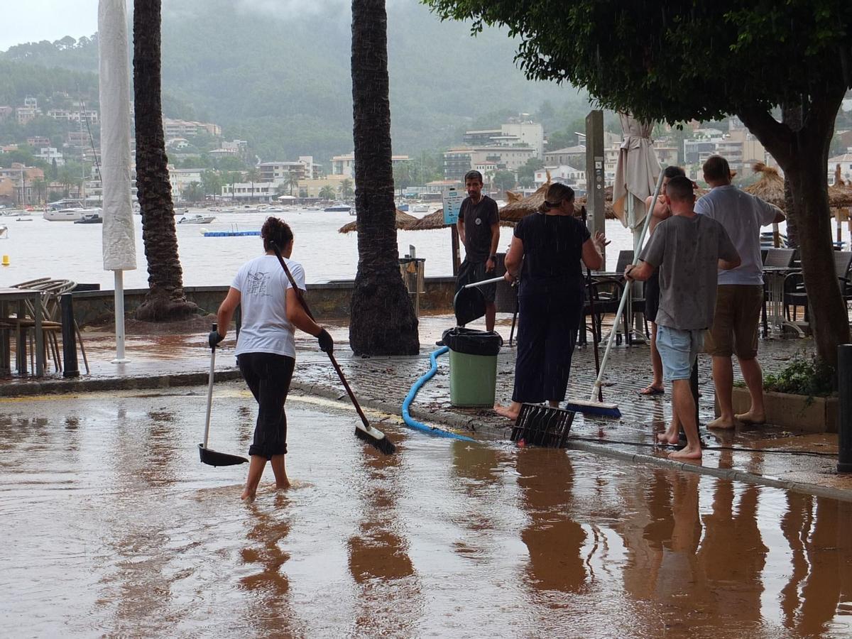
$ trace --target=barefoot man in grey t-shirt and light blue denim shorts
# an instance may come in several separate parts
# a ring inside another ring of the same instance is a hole
[[[695,421],[695,400],[689,376],[713,322],[716,307],[716,269],[740,266],[740,255],[721,224],[693,210],[693,184],[673,177],[666,187],[672,216],[660,222],[639,263],[625,268],[627,279],[645,280],[659,271],[657,348],[663,376],[671,382],[672,419],[661,443],[676,444],[678,421],[687,434],[687,446],[669,456],[700,459],[701,440]]]

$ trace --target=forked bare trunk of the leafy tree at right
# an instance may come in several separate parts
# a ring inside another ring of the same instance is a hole
[[[849,316],[834,272],[826,164],[844,93],[843,88],[828,88],[811,95],[799,130],[779,123],[760,106],[739,113],[784,170],[792,195],[792,208],[786,214],[797,230],[816,354],[835,368],[838,344],[849,342]]]

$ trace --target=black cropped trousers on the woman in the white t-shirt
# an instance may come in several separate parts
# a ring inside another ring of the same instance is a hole
[[[290,390],[296,360],[275,353],[237,355],[239,372],[257,400],[255,438],[249,455],[272,459],[287,454],[287,416],[284,402]]]

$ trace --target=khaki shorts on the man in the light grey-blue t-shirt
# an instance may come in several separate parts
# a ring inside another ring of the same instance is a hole
[[[715,357],[736,354],[740,360],[757,357],[757,326],[762,308],[763,285],[719,285],[713,325],[704,340],[705,353]]]

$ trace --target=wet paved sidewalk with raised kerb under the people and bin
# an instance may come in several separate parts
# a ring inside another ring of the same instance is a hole
[[[338,343],[337,360],[354,393],[364,406],[383,412],[400,414],[402,401],[417,377],[429,370],[429,353],[441,332],[452,325],[449,315],[421,318],[421,352],[414,357],[355,357],[347,348],[348,327],[330,326]],[[510,315],[498,315],[498,331],[508,344]],[[474,325],[481,328],[481,322]],[[132,327],[129,327],[132,332]],[[171,386],[205,385],[210,369],[210,348],[206,331],[192,334],[133,335],[126,340],[127,364],[112,364],[115,338],[107,332],[84,333],[86,354],[91,374],[86,375],[82,359],[81,376],[63,379],[49,374],[42,380],[3,379],[0,397],[49,393],[83,393],[109,389],[156,389]],[[293,392],[316,394],[347,401],[348,398],[325,354],[316,341],[297,334],[299,351]],[[764,372],[777,371],[794,354],[807,349],[812,342],[803,339],[769,339],[760,345],[760,361]],[[572,364],[568,396],[587,400],[595,379],[594,354],[590,347],[578,348]],[[509,401],[514,380],[515,349],[503,348],[498,356],[497,400]],[[735,375],[739,371],[734,366]],[[233,335],[216,353],[216,380],[239,379],[233,357]],[[670,395],[648,398],[636,394],[651,379],[648,346],[613,347],[607,365],[604,400],[619,405],[620,420],[584,417],[573,422],[573,448],[596,452],[614,458],[627,458],[701,472],[718,477],[779,486],[852,501],[852,475],[836,472],[838,436],[835,434],[797,435],[772,426],[750,427],[735,432],[709,432],[701,429],[706,449],[701,463],[674,462],[665,450],[653,446],[655,432],[665,427],[671,417]],[[713,418],[713,385],[710,359],[699,358],[699,416],[701,423]],[[474,431],[480,439],[508,440],[511,423],[491,411],[453,408],[449,402],[449,374],[446,356],[439,359],[435,377],[417,394],[412,417],[448,429]],[[713,450],[722,446],[725,450]],[[757,449],[757,451],[746,450]],[[799,454],[803,452],[805,454]],[[808,454],[810,453],[810,454]],[[818,454],[815,454],[818,453]],[[827,454],[826,454],[827,453]]]

